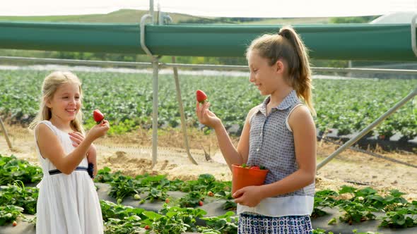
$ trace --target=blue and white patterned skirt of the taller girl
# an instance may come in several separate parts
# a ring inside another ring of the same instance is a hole
[[[312,234],[310,216],[269,217],[260,214],[239,215],[239,234]]]

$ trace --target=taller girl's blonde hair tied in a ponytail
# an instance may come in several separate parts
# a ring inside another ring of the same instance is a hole
[[[278,34],[266,34],[254,39],[247,48],[246,56],[252,50],[256,50],[262,58],[268,59],[269,66],[274,65],[279,59],[286,61],[288,73],[284,78],[285,81],[293,87],[297,96],[305,101],[308,109],[315,116],[310,62],[307,48],[297,32],[292,27],[282,27]]]

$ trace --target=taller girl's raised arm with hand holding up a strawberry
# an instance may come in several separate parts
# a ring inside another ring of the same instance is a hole
[[[232,170],[232,164],[243,164],[247,162],[249,154],[249,117],[246,118],[245,125],[243,126],[242,134],[240,135],[240,140],[236,148],[233,145],[232,140],[230,140],[230,136],[228,135],[223,123],[221,123],[221,119],[218,118],[213,112],[209,111],[209,106],[209,103],[200,105],[197,102],[197,116],[200,123],[208,125],[215,130],[218,147],[220,148],[230,170]],[[249,111],[247,116],[252,116],[252,110]]]

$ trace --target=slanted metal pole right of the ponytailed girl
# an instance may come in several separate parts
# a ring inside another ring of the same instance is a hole
[[[372,122],[365,129],[360,131],[360,133],[358,133],[358,135],[351,138],[351,140],[348,140],[345,144],[343,144],[341,147],[339,147],[339,149],[337,149],[335,152],[333,152],[333,154],[331,154],[330,156],[327,156],[326,159],[324,159],[322,162],[319,163],[319,165],[317,165],[317,171],[319,171],[320,168],[322,168],[324,165],[329,163],[329,161],[331,161],[331,159],[333,159],[335,156],[340,154],[343,150],[347,149],[348,147],[351,147],[352,144],[355,144],[355,142],[360,140],[360,138],[362,138],[364,135],[366,135],[366,133],[369,133],[370,130],[372,130],[372,128],[375,128],[382,121],[384,121],[385,118],[387,118],[388,116],[391,116],[392,113],[397,111],[397,109],[399,109],[401,106],[406,104],[407,101],[411,100],[416,95],[417,95],[417,88],[413,92],[409,93],[406,97],[404,97],[404,99],[401,99],[401,101],[399,101],[397,104],[395,104],[395,106],[392,106],[392,108],[389,109],[387,112],[382,114],[382,116],[380,116],[380,118],[377,118],[376,121]]]

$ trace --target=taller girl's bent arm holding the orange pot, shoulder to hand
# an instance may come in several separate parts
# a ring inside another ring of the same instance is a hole
[[[288,123],[293,130],[298,170],[276,183],[260,186],[260,194],[264,198],[293,192],[315,181],[316,128],[307,106],[294,109],[288,117]]]

